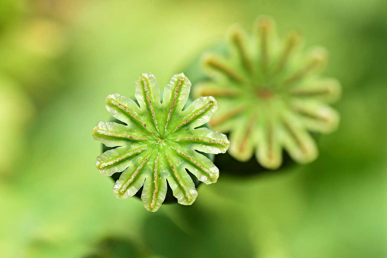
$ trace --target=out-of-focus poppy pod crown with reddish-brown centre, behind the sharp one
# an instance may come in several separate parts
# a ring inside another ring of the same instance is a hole
[[[326,51],[301,51],[300,36],[281,40],[274,22],[258,20],[252,35],[238,26],[229,30],[228,55],[207,53],[204,70],[211,81],[195,85],[194,96],[215,96],[219,111],[212,129],[229,133],[229,154],[248,161],[255,153],[263,167],[277,169],[283,149],[305,164],[318,156],[309,132],[336,130],[339,114],[328,104],[337,101],[341,86],[319,76]]]

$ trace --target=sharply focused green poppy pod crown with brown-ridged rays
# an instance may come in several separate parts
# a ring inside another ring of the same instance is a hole
[[[190,87],[184,74],[173,76],[161,103],[156,78],[143,73],[136,81],[138,104],[117,93],[106,98],[106,109],[127,125],[99,122],[92,136],[108,147],[119,146],[99,155],[96,162],[106,176],[123,171],[113,187],[118,198],[133,196],[143,186],[144,207],[156,211],[164,201],[167,180],[179,203],[195,201],[197,191],[186,169],[206,184],[217,181],[217,167],[195,150],[224,153],[229,141],[222,133],[197,128],[216,111],[214,97],[199,97],[183,110]]]

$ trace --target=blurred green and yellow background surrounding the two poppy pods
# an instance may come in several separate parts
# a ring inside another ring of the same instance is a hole
[[[305,166],[222,176],[148,212],[98,173],[108,94],[160,85],[271,15],[330,58],[339,130]],[[385,0],[0,0],[0,257],[387,257]]]

